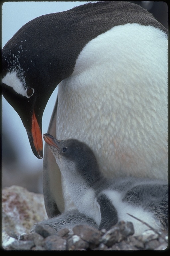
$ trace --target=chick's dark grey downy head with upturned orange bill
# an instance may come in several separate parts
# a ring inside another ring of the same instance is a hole
[[[102,174],[96,157],[90,147],[84,142],[76,139],[57,140],[47,133],[43,135],[43,138],[50,147],[57,163],[65,159],[67,160],[67,171],[71,169],[71,163],[74,163],[75,172],[81,175],[88,184],[92,185],[101,179]]]

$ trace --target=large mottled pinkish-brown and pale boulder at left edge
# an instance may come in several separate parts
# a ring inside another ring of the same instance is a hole
[[[6,187],[2,190],[2,226],[3,231],[28,233],[31,227],[47,218],[43,195],[29,192],[19,186]]]

